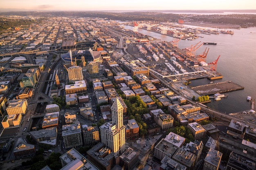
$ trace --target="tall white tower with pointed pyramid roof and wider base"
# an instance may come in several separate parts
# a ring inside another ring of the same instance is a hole
[[[121,155],[125,150],[125,126],[123,124],[123,106],[118,98],[111,106],[112,122],[100,126],[101,142],[113,153]]]

